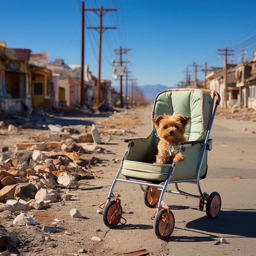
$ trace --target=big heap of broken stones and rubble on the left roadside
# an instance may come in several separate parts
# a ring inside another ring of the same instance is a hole
[[[60,188],[78,188],[79,180],[96,177],[89,168],[100,160],[88,155],[106,151],[94,143],[94,137],[100,142],[96,127],[91,134],[74,133],[70,127],[65,132],[59,126],[49,129],[43,143],[20,143],[14,152],[0,148],[0,212],[41,209],[63,200]]]

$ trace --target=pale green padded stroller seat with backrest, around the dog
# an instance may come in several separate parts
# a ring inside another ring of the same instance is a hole
[[[199,89],[169,89],[159,93],[155,99],[152,118],[162,114],[173,113],[190,117],[186,126],[186,141],[202,141],[184,148],[186,156],[182,163],[177,163],[171,176],[171,181],[193,179],[197,177],[198,164],[202,153],[203,142],[211,123],[213,111],[213,95]],[[128,150],[122,166],[122,174],[128,179],[146,180],[160,183],[166,180],[171,165],[156,165],[147,163],[147,157],[159,138],[153,126],[153,131],[144,139],[129,140]],[[207,171],[207,150],[204,153],[200,177]]]

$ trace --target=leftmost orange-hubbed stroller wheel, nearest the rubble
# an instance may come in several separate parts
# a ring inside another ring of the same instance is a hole
[[[118,206],[116,201],[110,201],[104,207],[103,222],[107,227],[113,228],[120,222],[122,214],[121,205]]]

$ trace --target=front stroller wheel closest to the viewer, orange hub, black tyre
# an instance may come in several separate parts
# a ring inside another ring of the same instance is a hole
[[[170,210],[169,214],[168,209],[166,208],[162,208],[157,212],[153,228],[158,238],[162,240],[166,240],[167,238],[169,238],[173,233],[174,225],[174,216]]]

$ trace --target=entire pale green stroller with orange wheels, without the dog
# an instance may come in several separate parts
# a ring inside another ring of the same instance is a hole
[[[202,192],[200,180],[207,175],[207,153],[212,148],[212,139],[209,139],[217,107],[220,104],[220,95],[212,90],[193,88],[168,89],[160,92],[154,102],[152,118],[162,114],[173,115],[180,113],[190,117],[186,126],[186,142],[180,143],[179,152],[186,156],[181,163],[149,164],[147,156],[159,141],[157,132],[153,130],[146,138],[125,139],[128,147],[122,159],[119,171],[110,188],[107,201],[99,207],[103,210],[103,222],[113,228],[125,224],[122,217],[121,200],[113,194],[116,182],[139,184],[144,191],[146,206],[155,208],[151,216],[154,220],[153,229],[158,238],[166,240],[173,232],[175,219],[171,209],[164,203],[164,193],[175,193],[199,199],[199,209],[203,211],[206,205],[206,214],[213,219],[218,216],[221,207],[219,193],[210,195]],[[122,175],[123,176],[122,176]],[[120,177],[119,177],[120,176]],[[199,195],[193,195],[179,189],[180,182],[196,184]],[[167,190],[168,184],[174,183],[177,191]]]

